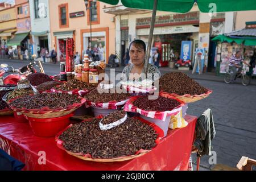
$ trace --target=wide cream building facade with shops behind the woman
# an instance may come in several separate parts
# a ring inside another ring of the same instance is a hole
[[[152,11],[130,9],[119,3],[109,6],[105,13],[115,15],[115,44],[117,53],[125,55],[126,48],[134,39],[148,43]],[[247,14],[247,15],[246,15]],[[249,18],[250,17],[250,18]],[[255,19],[254,11],[228,12],[209,15],[201,13],[194,5],[189,13],[177,14],[157,11],[152,47],[158,48],[162,55],[160,66],[168,65],[171,49],[176,59],[184,58],[183,49],[189,49],[189,59],[195,60],[197,52],[203,52],[202,66],[205,71],[216,69],[216,44],[211,41],[217,35],[231,32],[235,28],[244,28],[245,22]],[[189,43],[184,46],[184,43]]]

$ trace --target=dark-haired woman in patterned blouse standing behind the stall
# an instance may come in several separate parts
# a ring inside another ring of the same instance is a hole
[[[123,81],[142,81],[146,78],[144,73],[144,63],[146,57],[146,44],[142,40],[134,40],[130,43],[130,60],[131,64],[123,68],[122,80]],[[161,76],[161,73],[155,65],[148,64],[147,78],[153,81]],[[143,78],[143,79],[142,79]]]

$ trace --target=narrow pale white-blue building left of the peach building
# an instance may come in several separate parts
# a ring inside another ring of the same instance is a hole
[[[31,35],[34,53],[40,56],[40,49],[51,48],[49,0],[30,0]]]

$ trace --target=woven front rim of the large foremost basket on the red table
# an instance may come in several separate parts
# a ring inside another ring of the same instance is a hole
[[[146,154],[147,152],[143,152],[143,153],[140,153],[138,155],[130,155],[130,156],[124,156],[124,157],[120,157],[120,158],[112,158],[112,159],[93,159],[93,158],[86,158],[84,156],[81,156],[81,155],[77,155],[77,154],[74,154],[72,152],[69,152],[69,151],[66,151],[68,154],[70,155],[73,155],[75,156],[76,158],[79,158],[79,159],[82,159],[82,160],[87,160],[87,161],[92,161],[92,162],[98,162],[98,163],[111,163],[111,162],[122,162],[122,161],[126,161],[126,160],[131,160],[131,159],[134,159],[134,158],[138,158],[144,154]]]

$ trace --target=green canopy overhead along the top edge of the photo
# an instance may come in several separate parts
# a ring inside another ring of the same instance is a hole
[[[110,5],[117,5],[119,2],[119,0],[100,1]],[[154,5],[154,0],[121,0],[121,2],[123,6],[135,9],[152,10]],[[256,10],[254,0],[158,0],[157,10],[187,13],[195,2],[203,13],[209,13],[214,7],[216,7],[216,12]]]

